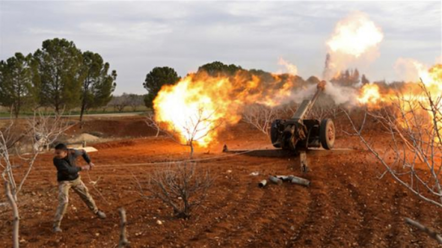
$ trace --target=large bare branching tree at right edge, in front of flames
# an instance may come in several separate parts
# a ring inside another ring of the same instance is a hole
[[[435,99],[422,82],[420,86],[421,96],[410,99],[397,95],[391,106],[376,112],[365,111],[359,127],[345,114],[353,126],[351,134],[358,136],[385,168],[381,178],[390,174],[417,197],[442,207],[442,96]],[[389,149],[376,148],[362,135],[367,117],[382,124],[391,138]],[[387,159],[389,153],[393,159]]]

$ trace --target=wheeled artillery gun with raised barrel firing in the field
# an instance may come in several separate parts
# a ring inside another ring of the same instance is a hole
[[[304,119],[324,91],[325,84],[325,81],[318,83],[313,98],[304,100],[291,119],[275,120],[272,123],[270,138],[274,147],[302,153],[308,148],[333,148],[335,139],[333,121]]]

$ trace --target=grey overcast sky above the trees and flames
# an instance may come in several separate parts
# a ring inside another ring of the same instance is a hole
[[[118,74],[116,94],[145,94],[142,82],[156,66],[183,76],[216,60],[278,72],[282,57],[308,78],[321,75],[336,23],[358,10],[384,33],[379,57],[361,73],[395,80],[401,77],[393,69],[400,57],[441,63],[441,8],[441,1],[0,0],[0,59],[66,38],[111,64]]]

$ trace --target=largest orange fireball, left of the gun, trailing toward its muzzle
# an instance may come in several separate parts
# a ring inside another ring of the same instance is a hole
[[[291,96],[296,77],[269,74],[263,80],[247,71],[233,76],[189,74],[176,85],[165,86],[154,100],[155,119],[177,134],[184,144],[207,147],[219,129],[241,120],[247,104],[274,106]]]

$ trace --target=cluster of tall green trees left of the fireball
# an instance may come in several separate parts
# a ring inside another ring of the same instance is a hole
[[[16,117],[25,109],[80,107],[82,120],[88,109],[109,103],[116,77],[100,54],[82,52],[66,39],[45,40],[34,53],[0,61],[0,105]]]

